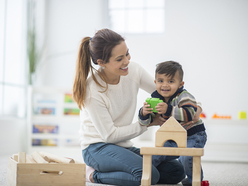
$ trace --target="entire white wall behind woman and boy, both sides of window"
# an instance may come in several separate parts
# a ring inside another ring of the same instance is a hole
[[[155,65],[176,60],[185,71],[185,88],[202,102],[208,118],[214,113],[248,112],[248,1],[165,1],[164,34],[126,35],[132,60],[152,75]],[[46,1],[47,58],[38,81],[72,87],[80,40],[106,27],[106,1]],[[141,91],[138,105],[148,95]]]

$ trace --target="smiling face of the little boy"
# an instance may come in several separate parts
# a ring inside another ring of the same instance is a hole
[[[184,82],[181,81],[178,71],[174,77],[169,77],[165,74],[156,74],[156,79],[154,82],[156,84],[158,93],[164,97],[166,102],[173,94],[175,94],[178,88],[181,88],[184,85]]]

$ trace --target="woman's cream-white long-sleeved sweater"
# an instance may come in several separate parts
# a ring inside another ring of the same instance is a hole
[[[104,82],[96,74],[97,80]],[[108,84],[106,92],[92,77],[87,80],[85,108],[80,112],[80,143],[82,150],[92,143],[113,143],[131,147],[130,139],[147,130],[138,122],[132,123],[139,88],[151,94],[156,86],[154,79],[140,65],[129,63],[129,73],[121,76],[117,85]],[[139,105],[140,107],[141,105]]]

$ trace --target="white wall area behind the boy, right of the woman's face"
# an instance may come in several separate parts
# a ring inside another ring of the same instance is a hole
[[[209,118],[248,112],[248,1],[166,1],[165,20],[164,35],[127,36],[133,60],[153,74],[158,62],[180,62]]]

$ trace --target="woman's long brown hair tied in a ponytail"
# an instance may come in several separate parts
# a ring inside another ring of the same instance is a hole
[[[96,65],[98,64],[98,59],[101,59],[103,63],[108,63],[112,49],[122,41],[125,41],[122,36],[109,29],[101,29],[95,33],[94,37],[85,37],[81,41],[76,62],[76,75],[73,84],[73,98],[80,109],[82,109],[82,106],[85,106],[84,99],[87,88],[86,81],[90,71],[96,84],[100,87],[104,87],[97,81],[93,73],[95,71],[99,74],[99,72],[92,66],[91,60]],[[104,80],[100,74],[99,76]],[[107,90],[107,87],[105,88]]]

